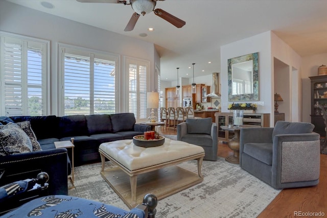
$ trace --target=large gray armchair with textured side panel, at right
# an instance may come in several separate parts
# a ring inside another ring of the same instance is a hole
[[[319,183],[319,134],[314,125],[277,121],[274,128],[242,128],[240,166],[276,189]]]

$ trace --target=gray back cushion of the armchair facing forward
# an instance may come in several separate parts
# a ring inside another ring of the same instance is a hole
[[[208,134],[211,133],[212,118],[203,119],[186,119],[186,126],[188,127],[188,134]]]

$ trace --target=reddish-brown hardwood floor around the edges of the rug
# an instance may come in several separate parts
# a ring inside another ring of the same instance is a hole
[[[164,126],[157,127],[157,132],[163,135],[176,135],[176,129]],[[227,157],[232,150],[221,142],[218,143],[218,156]],[[320,155],[319,184],[312,187],[288,188],[282,190],[277,197],[259,214],[258,217],[297,217],[303,213],[324,213],[327,217],[327,155]],[[304,214],[306,215],[306,214]],[[314,215],[314,214],[312,214]],[[317,215],[316,215],[317,216]]]

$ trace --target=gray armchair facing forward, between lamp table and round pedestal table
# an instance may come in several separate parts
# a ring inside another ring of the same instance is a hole
[[[188,118],[178,124],[177,140],[203,147],[203,160],[217,161],[217,124],[212,122],[212,118]]]

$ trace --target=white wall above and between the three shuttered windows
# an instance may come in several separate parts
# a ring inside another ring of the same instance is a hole
[[[0,1],[0,30],[51,41],[51,114],[58,115],[58,70],[57,43],[66,43],[89,49],[119,54],[120,78],[118,92],[124,93],[123,56],[136,57],[150,61],[150,80],[153,77],[155,64],[159,64],[159,56],[152,43],[127,37],[121,34],[91,27],[76,21],[68,20],[30,8],[22,7],[7,1]],[[154,60],[155,58],[155,60]],[[156,84],[151,82],[151,84]],[[149,87],[154,90],[154,87]],[[120,96],[122,99],[124,96]],[[122,108],[122,105],[120,105]]]

